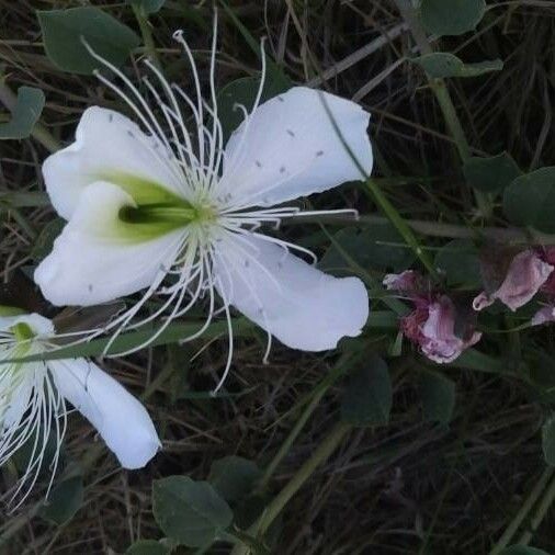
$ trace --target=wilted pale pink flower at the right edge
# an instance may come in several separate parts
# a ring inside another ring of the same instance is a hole
[[[555,251],[551,254],[555,259]],[[498,298],[514,312],[525,305],[548,282],[554,268],[545,260],[545,256],[541,251],[529,249],[519,252],[512,259],[499,288],[490,295],[483,291],[472,305],[475,310],[479,312],[492,305]],[[551,281],[553,283],[550,287],[553,287],[555,292],[555,276]]]

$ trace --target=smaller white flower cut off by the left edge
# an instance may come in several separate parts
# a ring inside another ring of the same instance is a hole
[[[14,497],[27,478],[27,492],[33,487],[53,439],[55,472],[66,432],[67,401],[97,428],[125,468],[145,466],[160,448],[143,405],[92,362],[18,362],[52,351],[55,339],[52,321],[37,314],[0,313],[0,466],[23,444],[32,445],[29,466]]]

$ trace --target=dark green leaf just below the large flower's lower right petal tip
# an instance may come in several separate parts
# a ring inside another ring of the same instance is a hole
[[[364,366],[348,378],[341,400],[341,418],[353,426],[385,424],[389,421],[393,389],[387,364],[370,353]]]

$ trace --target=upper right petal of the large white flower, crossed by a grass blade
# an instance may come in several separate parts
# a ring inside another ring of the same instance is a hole
[[[369,175],[370,114],[349,100],[295,87],[261,104],[248,126],[243,122],[231,135],[219,194],[231,194],[238,204],[270,206],[364,179],[331,117]]]

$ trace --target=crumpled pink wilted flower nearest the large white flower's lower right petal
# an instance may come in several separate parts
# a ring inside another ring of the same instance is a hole
[[[418,344],[422,353],[440,364],[454,361],[465,349],[477,343],[482,333],[466,322],[463,337],[455,333],[458,313],[453,301],[422,287],[422,278],[412,271],[388,274],[384,285],[409,293],[415,310],[400,320],[405,337]],[[428,287],[429,288],[429,287]]]

